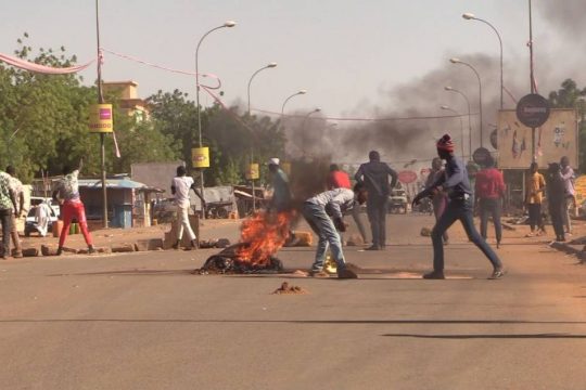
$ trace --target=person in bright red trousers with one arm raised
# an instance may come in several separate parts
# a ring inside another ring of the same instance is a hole
[[[56,190],[53,192],[53,199],[61,204],[61,214],[63,218],[63,229],[59,237],[58,256],[63,252],[63,245],[69,233],[69,225],[75,218],[81,229],[81,234],[88,245],[88,252],[93,253],[91,235],[88,231],[88,221],[86,220],[86,209],[79,197],[79,183],[77,177],[84,165],[84,160],[79,161],[79,168],[71,169],[69,167],[63,167],[63,179],[60,180]]]

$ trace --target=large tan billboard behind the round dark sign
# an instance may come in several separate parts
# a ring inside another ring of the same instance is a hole
[[[498,113],[498,167],[527,169],[531,156],[532,129],[521,123],[514,109]],[[575,109],[551,109],[549,119],[535,129],[535,154],[539,167],[559,162],[562,156],[577,167],[577,114]]]

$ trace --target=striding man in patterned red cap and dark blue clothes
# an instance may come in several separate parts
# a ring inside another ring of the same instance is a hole
[[[444,276],[444,245],[442,236],[446,230],[457,220],[462,223],[468,237],[488,258],[493,264],[492,280],[500,278],[505,275],[505,270],[500,259],[491,246],[481,237],[474,226],[472,188],[468,172],[463,162],[454,155],[454,141],[449,134],[445,134],[437,141],[437,155],[446,160],[446,174],[438,178],[429,188],[423,190],[413,198],[413,205],[419,204],[424,197],[433,196],[440,191],[447,192],[448,205],[446,210],[435,223],[432,230],[433,243],[433,271],[423,275],[426,280],[443,280]]]

